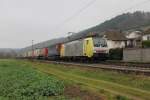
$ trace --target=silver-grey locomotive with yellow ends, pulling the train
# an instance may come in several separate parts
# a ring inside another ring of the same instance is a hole
[[[96,58],[105,60],[109,50],[107,42],[101,37],[88,37],[61,46],[60,57],[62,58]]]

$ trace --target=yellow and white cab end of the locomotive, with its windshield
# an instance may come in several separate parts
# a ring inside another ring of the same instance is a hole
[[[89,37],[84,39],[84,56],[106,59],[108,53],[109,50],[106,39],[100,37]]]

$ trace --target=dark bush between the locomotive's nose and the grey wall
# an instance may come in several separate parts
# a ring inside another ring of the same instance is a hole
[[[109,59],[110,60],[122,60],[123,58],[123,49],[116,48],[109,50]]]

